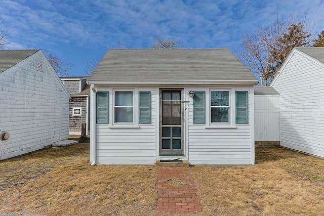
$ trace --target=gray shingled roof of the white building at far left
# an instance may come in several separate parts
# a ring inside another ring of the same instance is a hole
[[[39,50],[0,50],[0,73]]]

